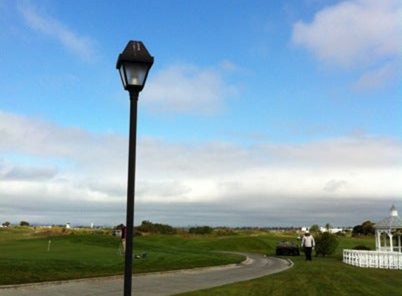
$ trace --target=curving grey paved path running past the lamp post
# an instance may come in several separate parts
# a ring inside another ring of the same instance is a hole
[[[241,264],[205,269],[187,269],[133,276],[133,295],[168,296],[180,292],[259,278],[292,267],[292,262],[274,257],[243,254]],[[0,296],[121,296],[123,276],[91,278],[57,283],[0,286]]]

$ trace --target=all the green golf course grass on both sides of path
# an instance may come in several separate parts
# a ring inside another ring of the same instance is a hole
[[[63,234],[60,232],[59,234]],[[65,233],[64,233],[65,234]],[[295,234],[241,232],[232,236],[143,236],[135,238],[134,272],[162,271],[239,262],[239,256],[217,254],[229,250],[274,255],[278,241]],[[48,252],[48,241],[51,250]],[[86,233],[43,236],[32,229],[0,229],[0,284],[54,281],[67,278],[123,273],[123,257],[117,254],[119,238]],[[356,245],[375,248],[374,238],[340,238],[337,253],[314,257],[290,257],[288,271],[251,281],[187,292],[180,296],[378,296],[402,295],[402,271],[365,269],[342,263],[342,250]]]

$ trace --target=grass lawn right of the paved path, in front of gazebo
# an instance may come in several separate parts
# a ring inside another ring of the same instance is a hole
[[[260,238],[267,244],[275,236]],[[276,236],[278,241],[279,236]],[[290,257],[292,269],[217,288],[176,296],[382,296],[402,295],[402,271],[352,267],[342,262],[342,250],[356,245],[375,248],[374,238],[340,238],[337,253],[329,257]],[[270,254],[273,255],[273,254]]]

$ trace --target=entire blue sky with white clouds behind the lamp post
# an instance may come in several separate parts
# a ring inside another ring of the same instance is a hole
[[[0,222],[354,226],[402,213],[399,0],[0,0]],[[402,214],[401,214],[402,215]]]

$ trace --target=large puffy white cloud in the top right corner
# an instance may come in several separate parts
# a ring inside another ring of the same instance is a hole
[[[375,65],[400,55],[402,5],[398,0],[354,0],[328,6],[310,23],[296,22],[292,40],[330,65]]]

